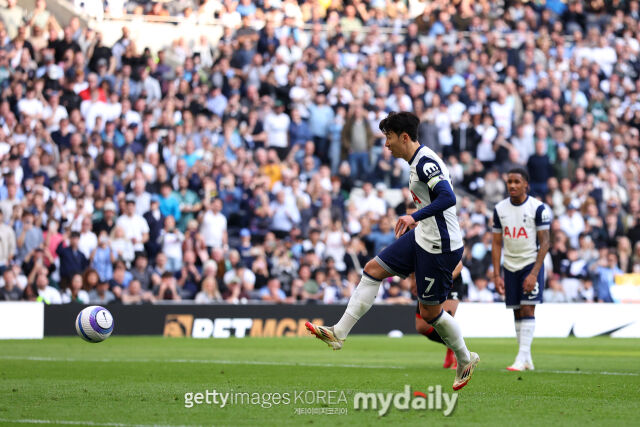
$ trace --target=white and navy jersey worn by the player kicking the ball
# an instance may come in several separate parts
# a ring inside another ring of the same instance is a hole
[[[448,183],[448,191],[453,191],[449,169],[442,159],[428,147],[420,146],[409,161],[411,168],[409,190],[418,211],[431,204],[436,197],[435,186],[441,182]],[[455,198],[453,193],[451,197]],[[453,206],[443,212],[421,219],[416,227],[416,242],[425,251],[441,254],[455,251],[462,247],[462,233],[456,215],[455,201]]]

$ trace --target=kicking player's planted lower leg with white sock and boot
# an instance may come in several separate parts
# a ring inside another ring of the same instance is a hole
[[[425,305],[420,303],[420,315],[435,328],[447,347],[455,353],[458,367],[453,389],[460,390],[471,379],[480,357],[477,353],[469,352],[460,326],[449,313],[443,310],[442,304]]]

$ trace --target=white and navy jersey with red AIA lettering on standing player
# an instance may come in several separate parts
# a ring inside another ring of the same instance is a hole
[[[510,198],[498,203],[493,210],[493,232],[502,234],[504,268],[515,273],[533,264],[538,256],[539,230],[548,230],[551,210],[533,197],[527,196],[520,205]]]

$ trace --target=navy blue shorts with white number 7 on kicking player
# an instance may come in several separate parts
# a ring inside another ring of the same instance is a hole
[[[447,300],[453,287],[451,274],[462,259],[464,248],[432,254],[416,242],[415,230],[400,236],[375,258],[388,273],[405,278],[416,273],[418,301],[438,305]]]

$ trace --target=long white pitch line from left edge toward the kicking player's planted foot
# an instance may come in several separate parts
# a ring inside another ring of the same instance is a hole
[[[121,359],[74,359],[39,356],[0,356],[0,360],[30,360],[35,362],[96,362],[122,363]],[[356,365],[340,363],[272,362],[262,360],[204,360],[204,359],[130,359],[126,362],[137,363],[203,363],[210,365],[257,365],[257,366],[303,366],[312,368],[361,368],[361,369],[407,369],[405,366]]]

